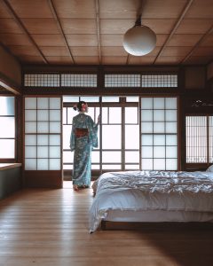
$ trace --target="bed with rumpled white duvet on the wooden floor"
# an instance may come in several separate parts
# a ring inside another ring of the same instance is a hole
[[[101,221],[213,222],[213,172],[108,172],[92,189],[90,232]]]

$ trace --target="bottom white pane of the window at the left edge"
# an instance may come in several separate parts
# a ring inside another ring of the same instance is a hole
[[[0,139],[0,158],[15,158],[15,141],[14,139]]]

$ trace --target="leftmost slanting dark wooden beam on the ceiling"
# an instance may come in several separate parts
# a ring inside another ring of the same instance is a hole
[[[36,44],[36,42],[34,41],[32,36],[28,33],[28,29],[24,26],[24,24],[22,23],[20,18],[17,16],[16,12],[14,12],[14,10],[12,9],[11,4],[9,4],[7,0],[3,0],[3,3],[5,5],[5,7],[6,7],[6,10],[12,15],[12,18],[16,21],[16,23],[19,25],[21,30],[23,30],[23,32],[28,36],[29,42],[32,43],[33,46],[36,48],[36,50],[39,52],[39,54],[42,57],[43,61],[46,64],[48,64],[47,59],[43,55],[43,52],[39,49],[38,45]]]

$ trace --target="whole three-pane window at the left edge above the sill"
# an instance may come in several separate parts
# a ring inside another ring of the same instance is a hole
[[[15,158],[14,97],[0,97],[0,159]]]

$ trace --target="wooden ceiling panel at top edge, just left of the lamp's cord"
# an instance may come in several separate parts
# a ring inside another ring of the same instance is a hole
[[[139,1],[99,0],[100,19],[133,19],[136,20]]]

